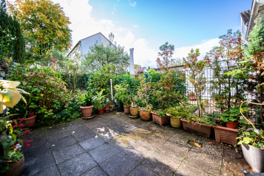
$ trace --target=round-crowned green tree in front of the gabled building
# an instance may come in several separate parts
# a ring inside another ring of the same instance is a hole
[[[109,34],[109,41],[106,46],[104,46],[104,43],[98,44],[98,41],[96,41],[94,45],[89,47],[90,51],[84,56],[82,64],[90,72],[111,64],[115,66],[115,71],[120,73],[124,70],[123,67],[129,64],[130,57],[125,48],[117,45],[116,42],[114,42],[114,46],[112,45],[114,41],[112,33]]]

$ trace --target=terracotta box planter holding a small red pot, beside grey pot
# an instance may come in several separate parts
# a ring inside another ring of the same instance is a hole
[[[228,144],[232,144],[233,146],[237,144],[238,139],[238,130],[232,128],[226,128],[223,126],[215,126],[214,127],[214,134],[215,134],[215,141],[216,142],[224,142]]]

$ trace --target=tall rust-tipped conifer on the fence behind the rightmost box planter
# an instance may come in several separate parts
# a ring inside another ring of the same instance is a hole
[[[221,39],[219,42],[220,46],[210,50],[205,56],[205,60],[209,63],[211,69],[214,70],[209,90],[213,92],[216,108],[219,108],[221,113],[223,113],[226,109],[230,109],[244,100],[247,77],[242,73],[234,77],[223,74],[220,62],[220,60],[224,60],[229,71],[239,66],[239,61],[243,59],[241,33],[239,31],[232,33],[232,30],[229,29],[226,35],[222,35],[219,38]]]

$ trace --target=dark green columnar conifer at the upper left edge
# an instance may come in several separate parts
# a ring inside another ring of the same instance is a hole
[[[5,31],[5,32],[4,32]],[[8,32],[12,40],[4,38]],[[10,44],[10,53],[6,57],[12,57],[13,62],[24,63],[25,61],[25,40],[21,31],[20,21],[17,18],[16,10],[13,11],[13,17],[7,12],[6,1],[0,1],[0,38],[2,42]]]

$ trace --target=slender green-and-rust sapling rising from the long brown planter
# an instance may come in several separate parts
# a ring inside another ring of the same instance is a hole
[[[206,62],[198,60],[199,55],[200,52],[198,48],[195,51],[191,49],[188,56],[183,58],[183,61],[185,63],[184,68],[190,69],[188,78],[194,87],[195,94],[197,95],[198,116],[200,118],[205,111],[205,104],[202,101],[202,95],[205,93],[207,79],[204,77],[204,67],[206,66]]]

